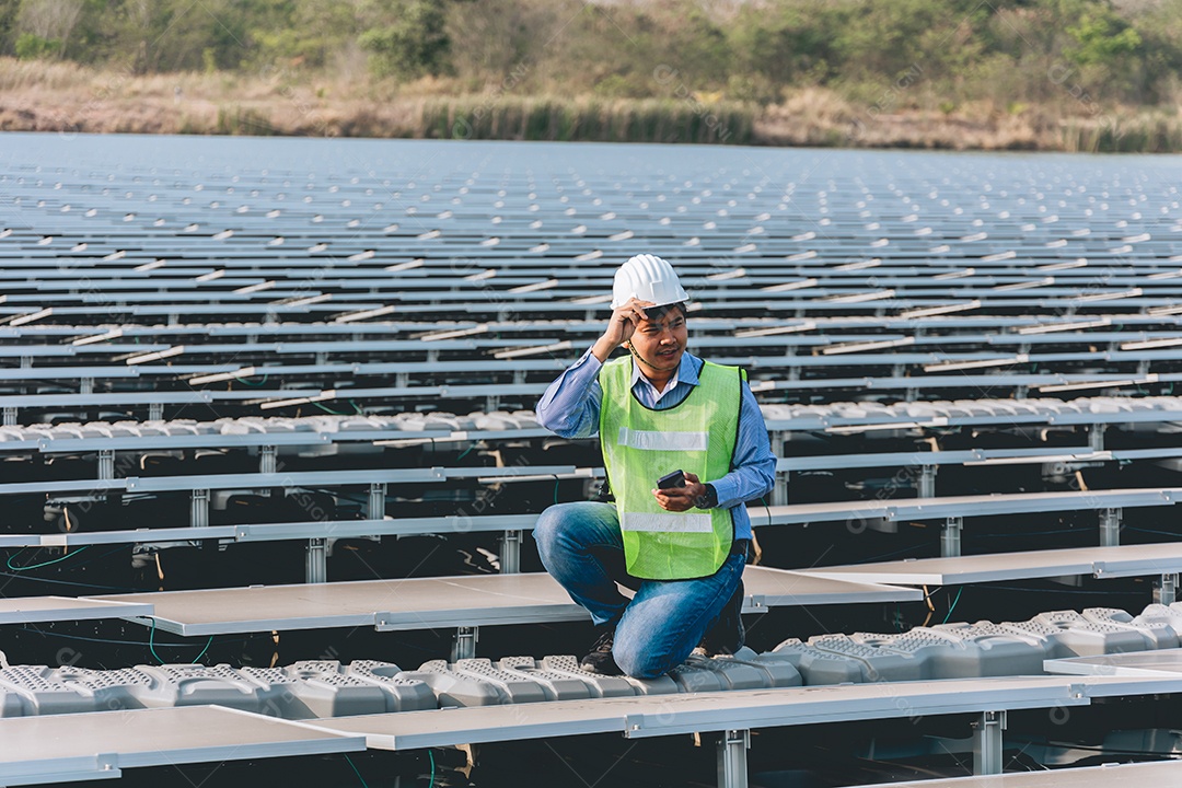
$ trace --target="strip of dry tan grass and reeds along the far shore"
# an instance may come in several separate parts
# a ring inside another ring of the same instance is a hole
[[[1180,90],[1182,92],[1182,90]],[[808,87],[779,105],[465,92],[307,74],[132,76],[0,58],[0,130],[327,137],[480,137],[722,142],[955,150],[1182,151],[1182,110],[1080,105],[876,111]],[[713,118],[713,125],[706,121]],[[457,133],[457,121],[465,129]],[[721,135],[720,131],[727,131]]]

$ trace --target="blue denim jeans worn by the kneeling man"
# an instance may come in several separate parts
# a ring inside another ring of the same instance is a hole
[[[746,556],[732,554],[697,580],[629,581],[616,506],[559,503],[538,517],[533,538],[546,571],[598,625],[616,627],[612,656],[629,676],[656,678],[686,662],[742,578]],[[621,580],[639,588],[631,601]]]

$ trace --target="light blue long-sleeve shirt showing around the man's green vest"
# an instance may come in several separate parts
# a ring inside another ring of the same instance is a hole
[[[599,404],[603,400],[603,389],[599,386],[602,367],[599,359],[587,350],[546,389],[538,403],[538,423],[564,438],[595,436],[599,431]],[[681,357],[677,372],[664,391],[657,391],[632,360],[632,392],[641,403],[654,410],[674,408],[699,385],[697,376],[701,370],[702,359],[687,352]],[[730,465],[730,473],[722,478],[703,481],[714,486],[720,508],[734,508],[735,539],[751,539],[751,516],[742,504],[772,490],[775,483],[775,456],[772,454],[759,403],[747,386],[742,388],[739,435]]]

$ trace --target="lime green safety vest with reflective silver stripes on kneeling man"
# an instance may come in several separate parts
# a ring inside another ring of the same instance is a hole
[[[703,483],[730,471],[745,378],[739,367],[704,362],[699,385],[681,404],[652,410],[632,395],[630,357],[599,370],[599,442],[632,577],[706,578],[730,553],[729,509],[667,512],[651,490],[658,478],[677,469],[696,474]]]

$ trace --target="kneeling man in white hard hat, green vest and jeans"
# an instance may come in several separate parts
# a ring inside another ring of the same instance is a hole
[[[616,499],[550,507],[534,527],[546,569],[600,627],[586,670],[656,678],[699,645],[743,643],[743,504],[772,489],[775,457],[741,370],[686,352],[688,300],[665,260],[625,262],[608,328],[538,404],[563,437],[599,434]],[[621,345],[629,357],[609,362]],[[631,601],[616,586],[629,578]]]

